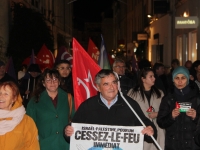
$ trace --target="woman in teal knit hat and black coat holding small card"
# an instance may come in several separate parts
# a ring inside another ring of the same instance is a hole
[[[200,116],[199,90],[189,78],[187,68],[175,68],[173,88],[161,101],[157,123],[166,130],[165,150],[200,149],[193,138]]]

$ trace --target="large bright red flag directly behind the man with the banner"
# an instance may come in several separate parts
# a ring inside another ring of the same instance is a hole
[[[97,94],[94,77],[100,71],[100,67],[75,38],[73,38],[73,66],[75,108],[78,109],[84,100]]]

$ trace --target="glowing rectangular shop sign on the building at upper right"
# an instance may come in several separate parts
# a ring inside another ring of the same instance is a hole
[[[175,28],[186,29],[186,28],[197,28],[199,20],[196,16],[193,17],[175,17]]]

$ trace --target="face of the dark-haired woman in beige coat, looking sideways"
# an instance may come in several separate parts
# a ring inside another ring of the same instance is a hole
[[[149,71],[146,75],[146,78],[142,77],[142,81],[146,90],[149,90],[155,83],[154,73]]]

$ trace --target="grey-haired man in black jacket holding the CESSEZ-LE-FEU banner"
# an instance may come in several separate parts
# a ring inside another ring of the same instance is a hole
[[[136,115],[131,111],[127,103],[123,100],[123,98],[119,94],[118,78],[113,73],[113,71],[108,69],[102,69],[96,74],[95,83],[99,91],[99,94],[87,99],[79,106],[77,112],[75,113],[74,118],[72,119],[72,126],[73,123],[112,125],[115,127],[142,126]],[[149,121],[148,118],[145,117],[137,102],[133,101],[131,98],[127,96],[124,97],[127,99],[131,107],[135,110],[140,119],[147,126],[141,131],[141,133],[144,134],[144,140],[147,142],[153,142],[150,136],[152,135],[154,137],[157,136],[156,127],[151,121]],[[69,142],[69,137],[74,134],[74,128],[72,126],[68,125],[64,131],[65,137],[68,142]],[[87,128],[87,129],[92,130],[92,128]],[[82,135],[82,137],[84,136],[85,135]],[[99,137],[101,136],[102,135],[99,135]],[[111,136],[107,137],[109,138]],[[123,137],[118,136],[118,139],[121,138]]]

